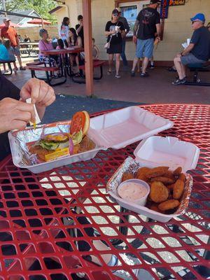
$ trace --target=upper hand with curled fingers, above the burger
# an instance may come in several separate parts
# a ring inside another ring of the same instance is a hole
[[[20,90],[20,98],[23,102],[30,97],[32,104],[36,104],[39,107],[47,107],[55,101],[55,92],[43,80],[31,78]]]

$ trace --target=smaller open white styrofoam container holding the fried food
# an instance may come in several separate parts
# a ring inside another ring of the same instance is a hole
[[[187,172],[190,169],[195,169],[197,161],[200,155],[200,149],[194,144],[186,141],[179,141],[175,137],[150,137],[141,141],[139,146],[134,151],[135,160],[139,162],[140,167],[158,167],[167,166],[169,169],[174,170],[176,167],[182,167],[183,172]],[[127,158],[127,160],[129,160]],[[132,160],[132,159],[131,159]],[[109,183],[117,177],[117,174],[113,174]],[[187,183],[189,188],[193,186],[193,177],[190,174],[186,174]],[[109,187],[108,183],[108,187]],[[167,223],[171,218],[177,217],[183,214],[184,210],[180,214],[162,214],[147,207],[142,207],[133,202],[127,202],[123,198],[119,197],[117,190],[109,190],[109,194],[125,209],[137,212],[148,218],[152,218],[155,221]]]

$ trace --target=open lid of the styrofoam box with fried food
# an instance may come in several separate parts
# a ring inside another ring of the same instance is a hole
[[[137,162],[147,167],[182,167],[183,172],[195,169],[200,149],[176,137],[153,136],[141,141],[134,151]]]

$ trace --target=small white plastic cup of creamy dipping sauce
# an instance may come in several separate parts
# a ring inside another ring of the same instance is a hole
[[[145,181],[130,179],[120,183],[118,195],[123,200],[144,206],[150,190],[150,186]]]

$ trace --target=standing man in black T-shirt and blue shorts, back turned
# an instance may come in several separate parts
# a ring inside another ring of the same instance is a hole
[[[153,56],[155,30],[160,41],[160,14],[157,11],[160,0],[151,0],[149,6],[137,15],[134,25],[133,41],[137,43],[136,57],[134,58],[131,76],[135,76],[135,68],[139,58],[144,57],[141,78],[147,77],[146,68],[150,57]],[[156,29],[155,29],[156,28]]]

